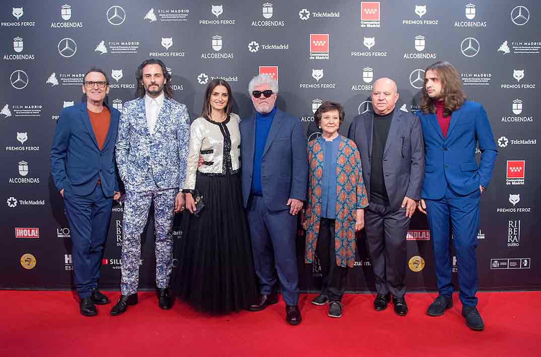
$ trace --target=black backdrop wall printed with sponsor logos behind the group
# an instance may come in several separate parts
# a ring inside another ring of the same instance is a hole
[[[83,100],[83,74],[104,69],[108,103],[133,98],[135,69],[149,57],[166,63],[177,101],[197,117],[206,83],[234,90],[235,111],[252,110],[247,85],[267,73],[279,81],[278,107],[314,137],[314,112],[325,100],[354,115],[371,110],[381,76],[398,83],[397,108],[418,109],[424,68],[456,65],[469,98],[483,103],[499,155],[481,199],[481,289],[541,288],[539,154],[541,4],[515,1],[163,1],[5,2],[0,8],[0,288],[70,288],[70,229],[49,173],[58,113]],[[480,157],[480,153],[477,154]],[[118,288],[121,204],[115,203],[102,264],[102,288]],[[177,220],[178,221],[178,220]],[[141,287],[154,287],[153,221],[142,238]],[[177,222],[178,223],[178,222]],[[178,225],[176,226],[178,227]],[[182,232],[175,230],[175,240]],[[407,285],[435,289],[430,233],[416,213],[408,234]],[[348,289],[373,290],[365,242]],[[302,262],[301,288],[318,285],[318,265]],[[176,261],[175,261],[176,264]],[[453,257],[453,270],[456,265]]]

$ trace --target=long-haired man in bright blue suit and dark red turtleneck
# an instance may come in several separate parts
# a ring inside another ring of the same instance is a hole
[[[489,186],[498,150],[483,105],[466,100],[460,76],[451,63],[436,62],[426,69],[420,104],[426,155],[418,206],[427,215],[438,283],[438,297],[427,314],[443,315],[453,306],[452,230],[462,315],[468,327],[483,330],[475,296],[479,199]],[[481,151],[479,166],[476,144]]]

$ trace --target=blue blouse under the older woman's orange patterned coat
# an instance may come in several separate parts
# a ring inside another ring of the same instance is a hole
[[[331,141],[319,137],[323,148],[321,217],[335,219],[337,214],[337,157],[340,135]]]

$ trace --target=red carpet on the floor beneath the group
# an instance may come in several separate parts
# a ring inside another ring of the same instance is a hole
[[[111,301],[119,293],[106,292]],[[371,294],[347,294],[344,315],[327,306],[299,303],[303,321],[285,322],[283,301],[262,312],[207,316],[183,303],[162,311],[154,293],[126,314],[81,316],[71,292],[0,291],[0,356],[538,356],[541,292],[479,293],[483,332],[466,327],[455,305],[432,318],[436,294],[406,294],[410,313],[372,309]]]

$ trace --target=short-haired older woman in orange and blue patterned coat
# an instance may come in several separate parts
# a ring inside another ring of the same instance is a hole
[[[347,268],[355,262],[355,232],[364,227],[363,208],[368,200],[357,145],[338,134],[344,121],[342,105],[322,103],[315,120],[322,134],[308,142],[307,149],[308,204],[301,215],[306,229],[305,262],[312,263],[317,253],[321,263],[322,292],[312,303],[328,302],[328,315],[339,318]]]

